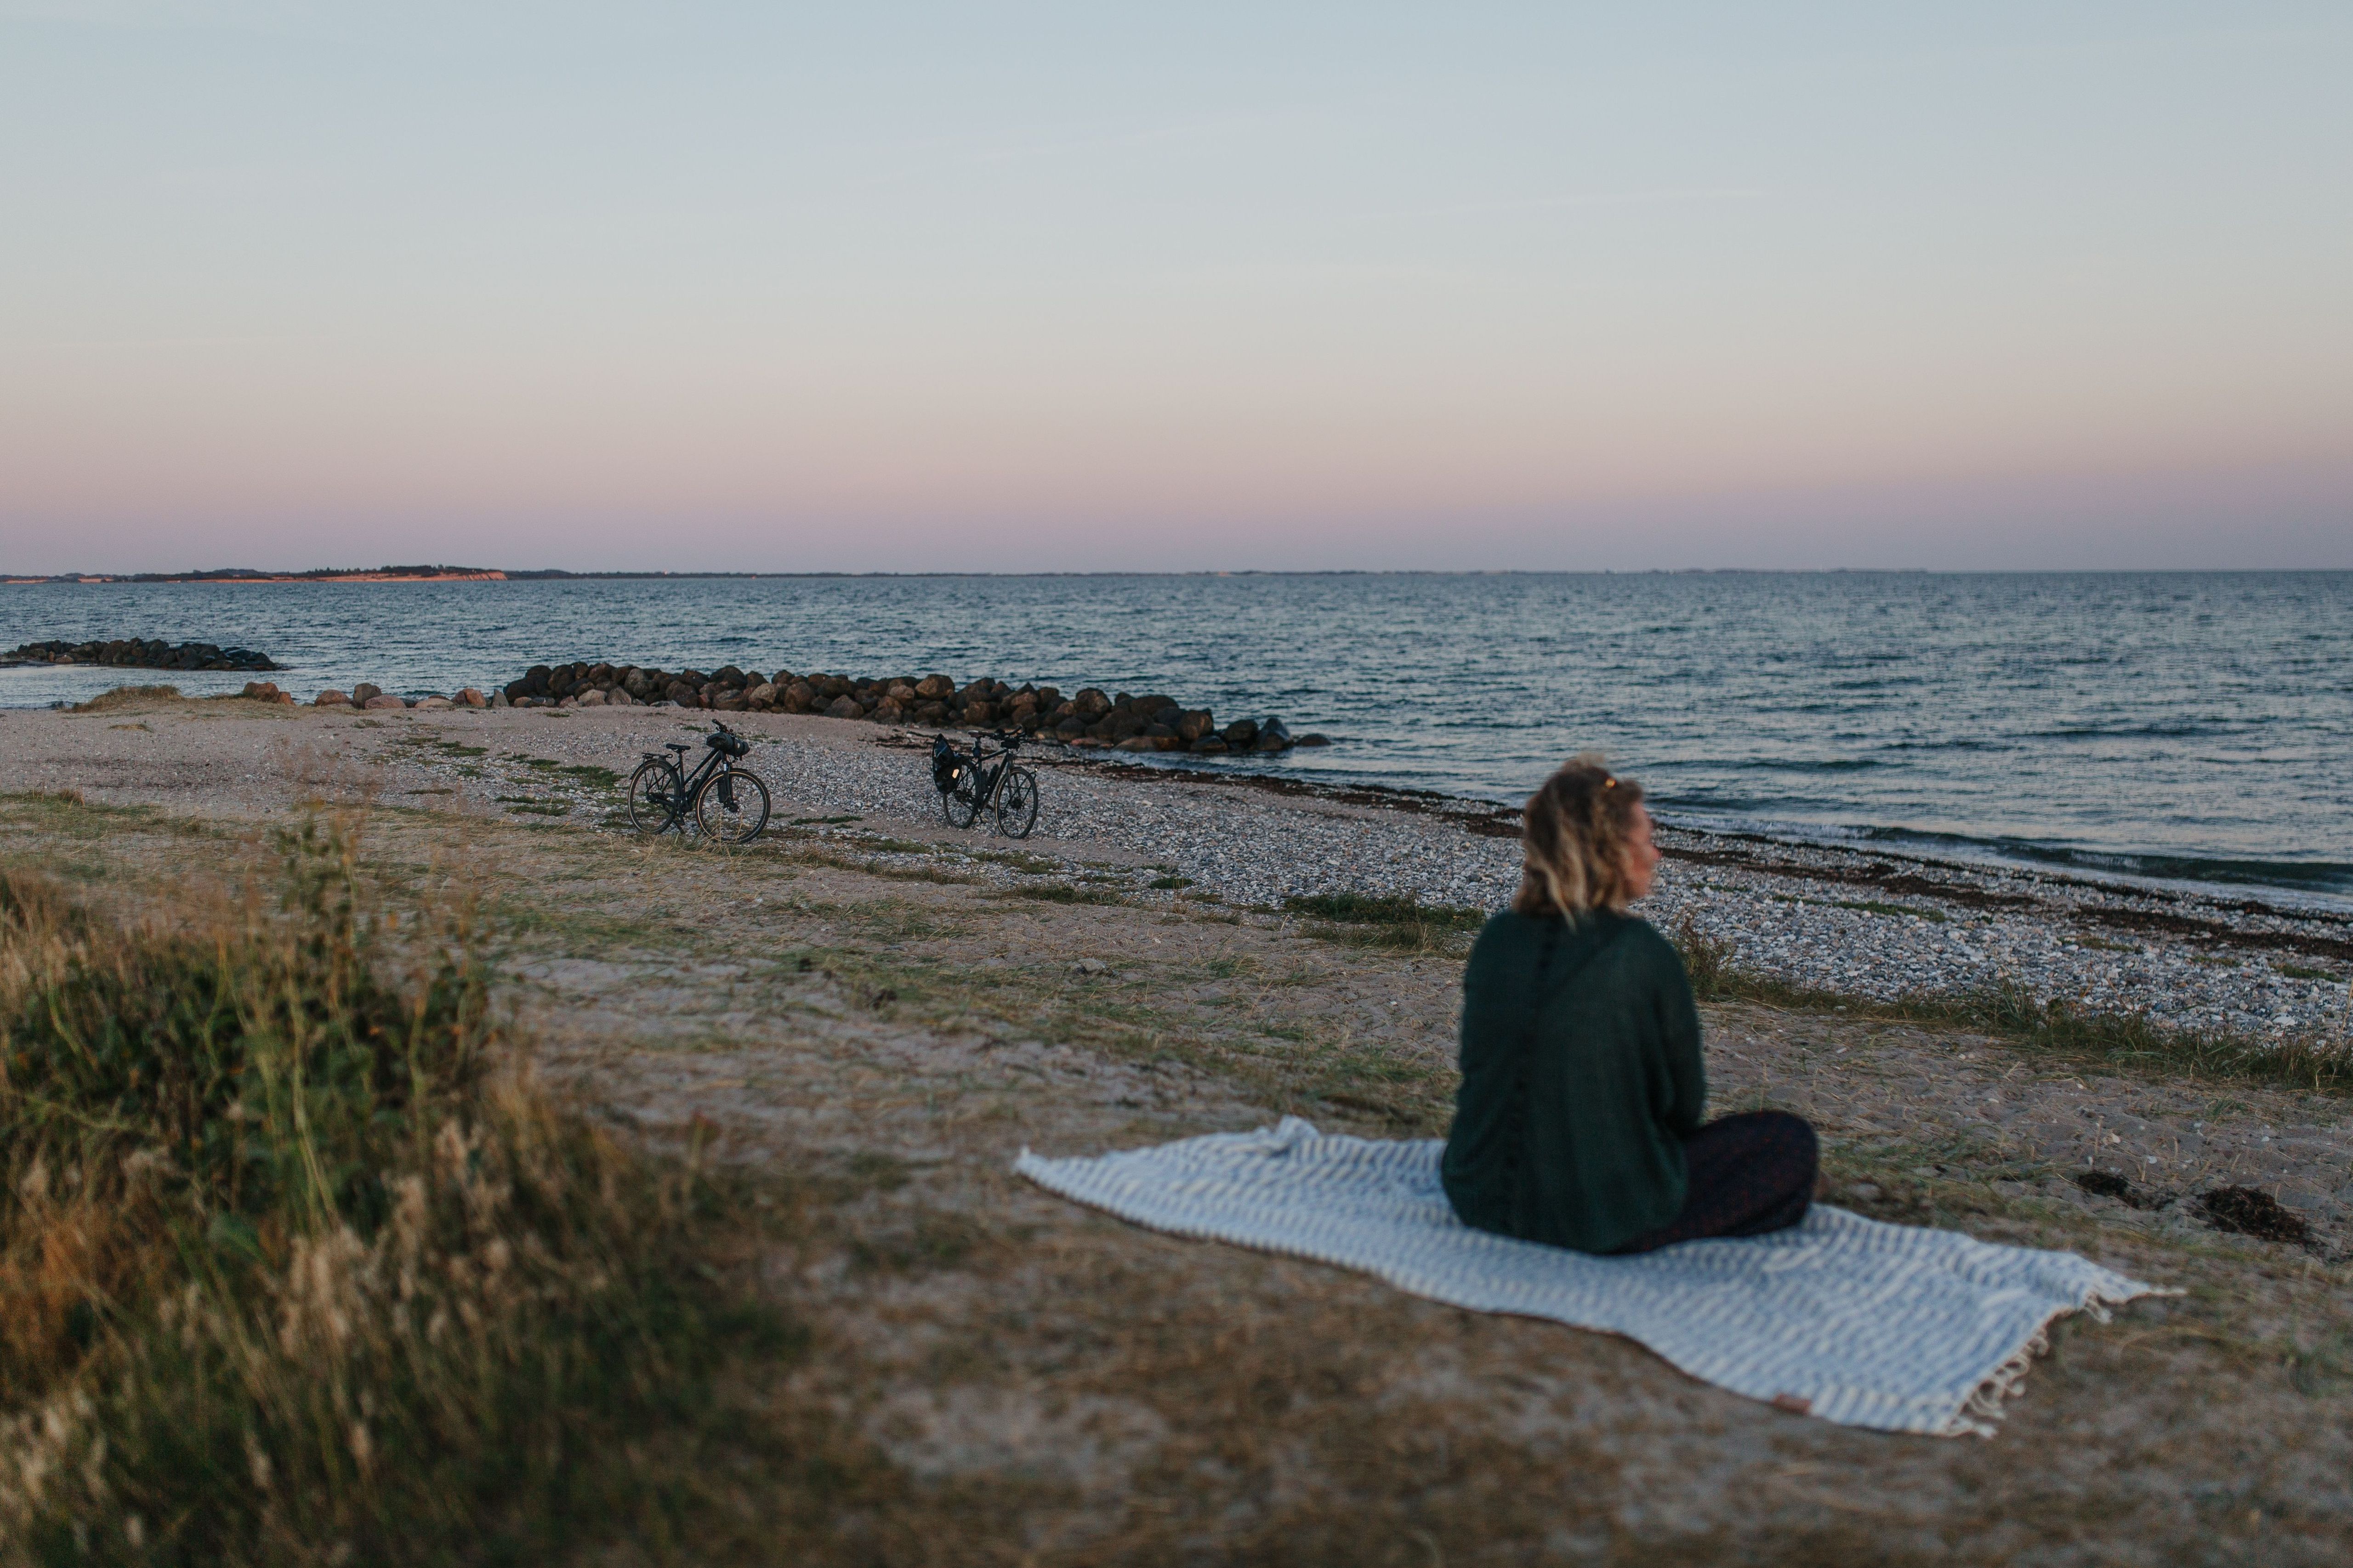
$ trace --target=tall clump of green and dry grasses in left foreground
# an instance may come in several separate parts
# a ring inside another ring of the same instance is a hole
[[[348,827],[151,924],[0,877],[0,1563],[518,1561],[661,1512],[774,1316],[701,1159],[515,1067]]]

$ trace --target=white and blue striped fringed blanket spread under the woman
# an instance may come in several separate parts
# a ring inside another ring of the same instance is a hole
[[[1640,1340],[1694,1378],[1849,1427],[1993,1436],[2052,1319],[2158,1293],[2073,1253],[1817,1206],[1805,1225],[1591,1258],[1466,1227],[1438,1143],[1327,1138],[1297,1117],[1014,1168],[1179,1237],[1337,1262],[1400,1291]]]

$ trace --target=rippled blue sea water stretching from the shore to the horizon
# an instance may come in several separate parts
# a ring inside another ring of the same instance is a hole
[[[995,675],[1280,715],[1212,766],[2353,898],[2353,574],[788,576],[0,588],[31,639],[242,644],[301,696],[572,658]],[[0,705],[245,675],[0,670]],[[1191,762],[1191,759],[1188,759]]]

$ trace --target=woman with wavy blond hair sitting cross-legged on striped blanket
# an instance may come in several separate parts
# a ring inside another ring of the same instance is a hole
[[[1464,1081],[1445,1185],[1478,1229],[1647,1253],[1795,1225],[1814,1128],[1774,1110],[1701,1124],[1699,1011],[1682,957],[1626,905],[1659,851],[1642,785],[1569,759],[1527,802],[1511,910],[1464,971]]]

